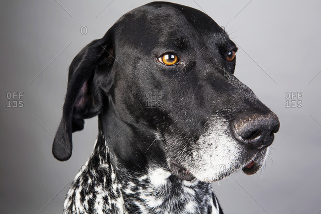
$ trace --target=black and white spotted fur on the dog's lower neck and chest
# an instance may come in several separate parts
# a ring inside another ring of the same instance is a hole
[[[116,173],[120,176],[117,177]],[[222,214],[210,183],[176,178],[160,166],[148,173],[115,169],[107,141],[94,151],[71,185],[65,214]]]

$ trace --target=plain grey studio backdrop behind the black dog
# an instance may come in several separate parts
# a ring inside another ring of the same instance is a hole
[[[84,130],[74,134],[73,157],[64,163],[53,158],[52,134],[62,114],[68,66],[84,45],[101,38],[122,14],[149,1],[110,2],[1,1],[1,213],[62,212],[70,181],[89,157],[98,133],[97,118],[87,120]],[[235,75],[281,121],[264,169],[213,183],[225,213],[317,214],[321,2],[173,2],[205,10],[221,26],[228,23],[226,30],[239,46]],[[86,35],[80,34],[81,26],[87,27]],[[13,100],[7,98],[8,92],[24,93],[22,108],[6,107]],[[302,107],[285,108],[286,92],[302,92]]]

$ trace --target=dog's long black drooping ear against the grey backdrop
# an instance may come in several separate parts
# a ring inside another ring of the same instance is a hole
[[[69,67],[63,115],[52,145],[52,154],[59,161],[71,157],[72,132],[82,130],[84,119],[101,112],[104,97],[113,85],[113,38],[110,29],[102,39],[86,45]]]

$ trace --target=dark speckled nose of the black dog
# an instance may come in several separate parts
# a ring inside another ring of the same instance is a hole
[[[274,133],[278,132],[280,122],[278,116],[254,113],[242,116],[233,122],[235,136],[239,141],[253,149],[263,149],[272,144]]]

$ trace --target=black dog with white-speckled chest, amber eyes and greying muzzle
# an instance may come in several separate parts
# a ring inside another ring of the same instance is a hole
[[[64,214],[222,214],[211,189],[257,172],[279,119],[235,76],[237,46],[203,12],[152,2],[124,14],[69,68],[52,146],[98,116],[94,151]]]

